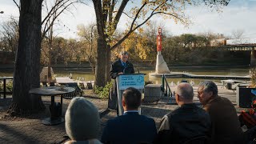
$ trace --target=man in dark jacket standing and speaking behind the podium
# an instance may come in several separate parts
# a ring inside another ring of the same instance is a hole
[[[110,77],[114,79],[113,90],[110,92],[109,98],[109,108],[111,109],[117,109],[118,106],[118,90],[116,82],[118,74],[134,74],[134,66],[131,62],[128,62],[128,57],[127,51],[121,51],[118,60],[111,65]]]

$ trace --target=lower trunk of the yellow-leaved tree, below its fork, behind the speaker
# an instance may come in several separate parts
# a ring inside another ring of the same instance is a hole
[[[106,86],[106,40],[98,37],[95,84],[97,86]]]

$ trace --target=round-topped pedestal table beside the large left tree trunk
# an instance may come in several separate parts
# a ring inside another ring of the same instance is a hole
[[[42,120],[42,123],[45,125],[57,125],[59,123],[64,122],[64,119],[61,118],[58,114],[56,115],[56,106],[54,102],[55,96],[61,96],[61,114],[62,114],[62,95],[63,94],[69,94],[74,92],[73,87],[64,87],[63,90],[61,90],[60,87],[56,86],[50,86],[50,87],[40,87],[35,88],[29,91],[29,94],[37,94],[41,96],[50,96],[51,97],[51,103],[50,103],[50,118],[45,118]]]

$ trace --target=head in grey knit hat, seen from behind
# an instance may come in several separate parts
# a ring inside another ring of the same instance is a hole
[[[66,110],[65,127],[71,140],[98,138],[100,118],[97,107],[86,98],[73,98]]]

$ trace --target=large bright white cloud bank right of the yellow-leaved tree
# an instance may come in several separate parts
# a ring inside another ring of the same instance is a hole
[[[232,2],[232,1],[231,1]],[[203,33],[211,31],[218,34],[230,35],[233,30],[245,30],[245,37],[256,37],[255,2],[231,3],[224,7],[222,13],[210,11],[206,6],[192,7],[187,14],[193,22],[188,28],[171,20],[166,20],[166,27],[175,35],[184,33]]]

